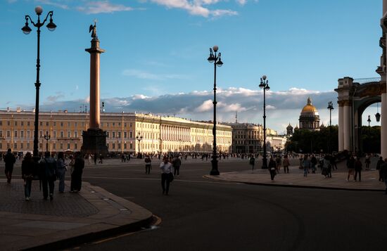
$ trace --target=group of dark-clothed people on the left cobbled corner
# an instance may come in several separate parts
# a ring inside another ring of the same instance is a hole
[[[4,156],[6,162],[6,177],[8,184],[11,184],[11,177],[13,172],[13,165],[15,163],[15,156],[11,149],[8,149]],[[49,152],[44,154],[38,162],[35,161],[31,153],[26,153],[22,161],[22,178],[24,181],[25,200],[30,200],[32,181],[39,181],[40,188],[43,191],[43,199],[53,200],[53,191],[55,181],[58,180],[58,192],[65,192],[65,173],[71,174],[70,193],[77,193],[82,188],[82,172],[84,169],[84,159],[81,153],[75,153],[75,157],[70,157],[70,162],[65,162],[63,152],[58,153],[55,159]]]

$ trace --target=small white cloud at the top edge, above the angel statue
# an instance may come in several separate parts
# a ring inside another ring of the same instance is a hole
[[[78,11],[87,14],[114,13],[117,11],[133,11],[132,7],[122,4],[110,4],[109,1],[89,1],[86,6],[77,7]]]

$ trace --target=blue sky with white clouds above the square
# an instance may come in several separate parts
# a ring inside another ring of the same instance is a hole
[[[337,124],[337,80],[379,77],[381,0],[0,0],[0,109],[34,108],[36,28],[42,27],[40,109],[80,111],[89,101],[89,25],[97,20],[101,102],[106,112],[152,112],[212,120],[215,44],[217,120],[262,124],[260,77],[267,75],[267,127],[298,123],[307,97]],[[379,105],[380,106],[380,105]],[[82,108],[81,108],[82,107]],[[379,108],[380,112],[380,108]],[[376,113],[376,105],[364,111]],[[374,116],[372,116],[373,118]],[[377,125],[372,119],[371,125]],[[363,123],[364,123],[363,122]],[[365,122],[364,124],[367,124]]]

